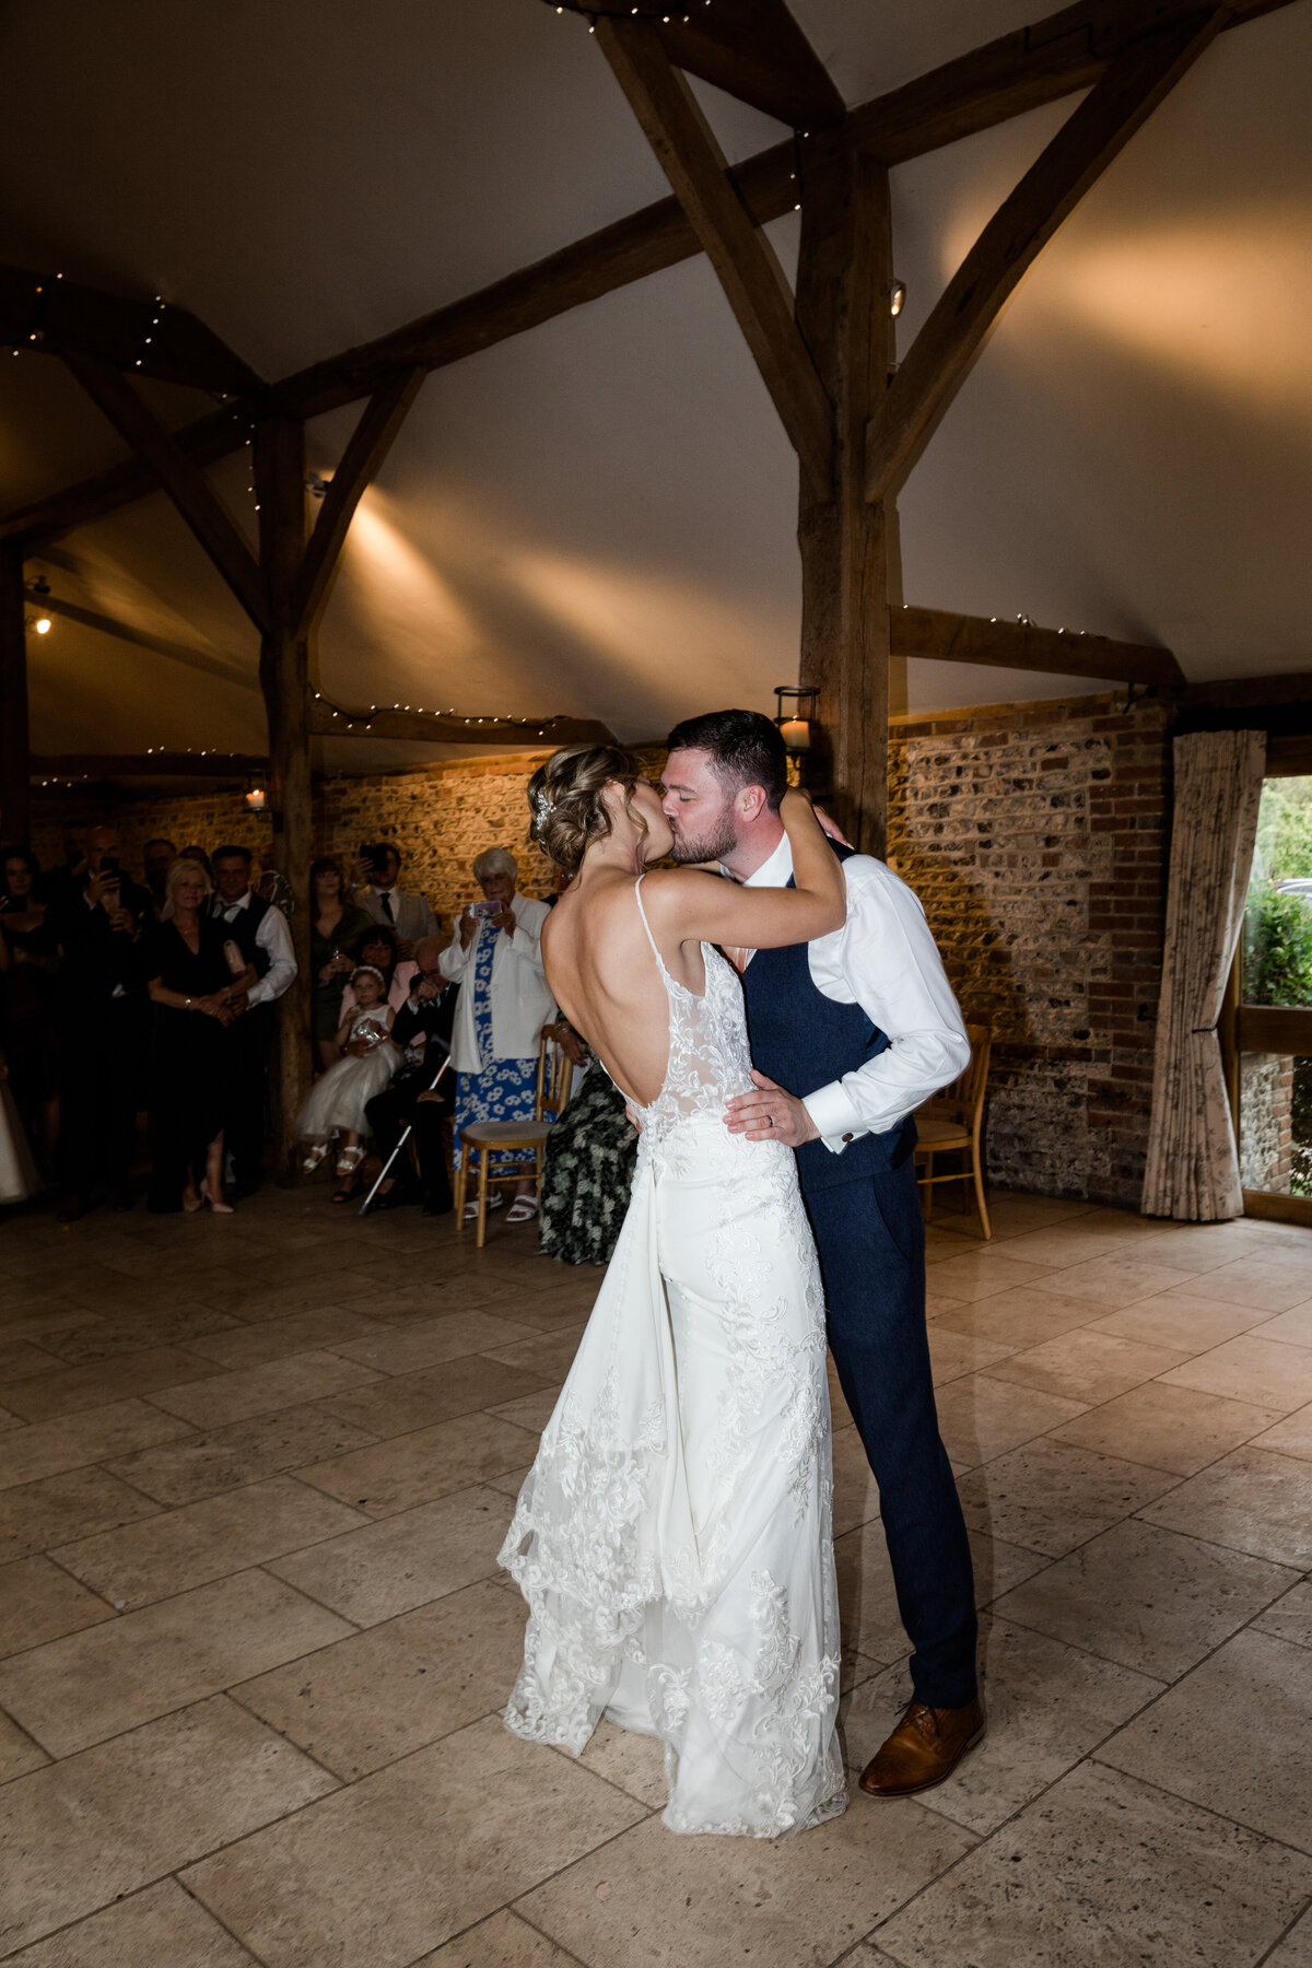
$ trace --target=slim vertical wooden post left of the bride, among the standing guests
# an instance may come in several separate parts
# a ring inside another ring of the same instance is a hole
[[[291,941],[297,976],[279,998],[273,1082],[273,1139],[283,1175],[291,1175],[295,1118],[313,1076],[309,647],[307,638],[297,634],[297,584],[305,555],[305,427],[295,419],[269,417],[256,427],[256,488],[269,624],[260,640],[260,689],[269,720],[271,852],[295,895]]]

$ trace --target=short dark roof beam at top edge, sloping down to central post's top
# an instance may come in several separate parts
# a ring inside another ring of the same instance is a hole
[[[848,104],[785,0],[716,0],[657,28],[675,67],[795,130],[828,130]]]

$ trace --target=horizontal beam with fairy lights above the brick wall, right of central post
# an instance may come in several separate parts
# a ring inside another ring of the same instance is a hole
[[[1153,644],[958,616],[944,608],[889,608],[889,634],[893,655],[942,663],[987,663],[993,669],[1037,669],[1044,677],[1102,677],[1107,683],[1186,681],[1170,649]]]

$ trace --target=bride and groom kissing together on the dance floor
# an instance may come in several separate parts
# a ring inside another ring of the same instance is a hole
[[[506,1722],[657,1736],[675,1832],[799,1832],[848,1803],[826,1340],[913,1645],[862,1789],[940,1783],[984,1734],[911,1118],[962,1015],[911,890],[826,836],[757,712],[679,724],[663,793],[620,746],[557,752],[529,807],[570,876],[547,980],[641,1138],[500,1555],[529,1606]]]

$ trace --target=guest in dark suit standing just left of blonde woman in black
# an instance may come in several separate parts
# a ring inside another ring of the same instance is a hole
[[[59,941],[59,1222],[75,1222],[96,1181],[112,1208],[132,1208],[128,1171],[146,1047],[146,994],[136,937],[149,893],[124,876],[118,832],[87,832],[85,868],[71,872],[47,921]]]

